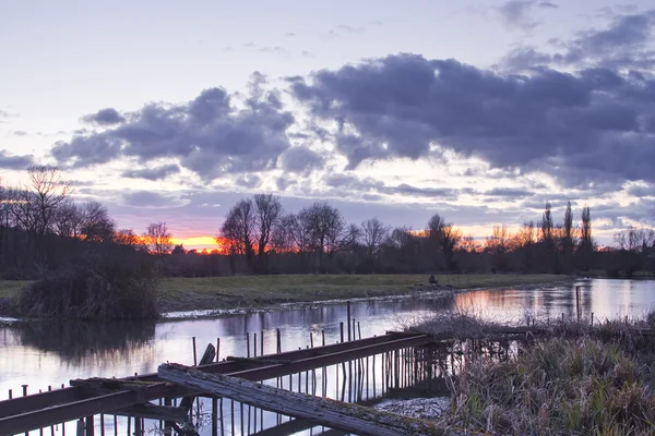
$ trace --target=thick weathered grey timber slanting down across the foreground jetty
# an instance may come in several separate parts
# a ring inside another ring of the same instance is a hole
[[[305,419],[318,425],[325,425],[358,435],[446,436],[454,434],[429,421],[401,416],[307,393],[276,389],[236,377],[206,374],[174,363],[160,365],[158,374],[159,377],[187,388],[227,397],[264,410]]]

